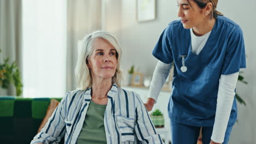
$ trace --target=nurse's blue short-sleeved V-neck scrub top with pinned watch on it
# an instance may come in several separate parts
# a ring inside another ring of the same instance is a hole
[[[190,30],[185,29],[180,20],[165,28],[153,55],[164,63],[174,61],[175,64],[169,117],[174,122],[198,127],[213,127],[220,75],[246,68],[242,30],[224,16],[216,18],[210,37],[198,55],[191,51]],[[187,55],[185,73],[180,70],[180,55]],[[233,125],[236,118],[234,99],[228,125]]]

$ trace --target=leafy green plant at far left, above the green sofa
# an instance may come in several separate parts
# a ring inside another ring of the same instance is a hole
[[[10,83],[14,84],[16,95],[21,95],[23,85],[21,83],[19,68],[15,62],[9,64],[9,58],[6,58],[4,59],[4,63],[0,63],[0,88],[7,89]]]

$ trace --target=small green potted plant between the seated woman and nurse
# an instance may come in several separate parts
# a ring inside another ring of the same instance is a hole
[[[156,109],[155,111],[153,111],[150,117],[156,128],[163,128],[165,126],[164,115],[159,109]]]

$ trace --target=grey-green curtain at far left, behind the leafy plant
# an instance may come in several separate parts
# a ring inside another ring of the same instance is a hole
[[[0,1],[0,63],[9,57],[15,61],[21,71],[21,2],[16,0]],[[15,87],[10,85],[5,91],[0,86],[0,95],[15,95]]]

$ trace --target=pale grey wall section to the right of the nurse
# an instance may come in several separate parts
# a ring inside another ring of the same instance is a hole
[[[237,93],[245,99],[247,106],[238,105],[238,123],[233,128],[231,143],[256,143],[256,16],[251,14],[255,11],[255,5],[254,0],[225,0],[218,4],[219,11],[241,26],[247,55],[247,69],[242,71],[248,85],[237,83]]]

